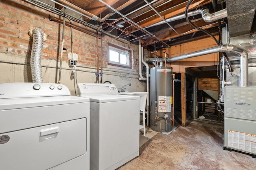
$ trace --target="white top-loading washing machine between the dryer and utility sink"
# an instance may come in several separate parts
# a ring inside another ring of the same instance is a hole
[[[90,98],[90,169],[114,170],[139,156],[140,97],[118,94],[114,84],[78,84]]]

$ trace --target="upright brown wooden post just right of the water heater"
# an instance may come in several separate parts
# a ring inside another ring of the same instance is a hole
[[[181,125],[187,126],[186,73],[181,73]]]

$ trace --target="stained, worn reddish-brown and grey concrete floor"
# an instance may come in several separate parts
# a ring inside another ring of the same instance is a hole
[[[256,170],[256,158],[223,150],[223,124],[194,120],[169,135],[148,129],[140,146],[118,170]]]

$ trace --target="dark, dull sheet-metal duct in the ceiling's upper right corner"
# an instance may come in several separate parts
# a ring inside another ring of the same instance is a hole
[[[249,34],[254,19],[256,0],[227,0],[230,37]]]

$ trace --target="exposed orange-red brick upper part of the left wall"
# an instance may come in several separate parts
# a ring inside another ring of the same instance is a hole
[[[42,51],[42,59],[60,58],[60,47],[62,43],[62,23],[50,21],[48,18],[53,16],[62,20],[63,18],[52,14],[26,3],[22,0],[3,0],[0,2],[0,53],[12,53],[17,55],[28,56],[32,45],[32,38],[28,34],[29,30],[35,27],[40,27],[47,35],[47,40],[44,42]],[[66,20],[66,23],[69,23]],[[96,31],[85,27],[82,24],[72,21],[72,24],[85,29],[88,32],[96,34]],[[77,53],[78,65],[96,67],[97,60],[97,38],[94,35],[89,35],[80,30],[73,28],[73,51]],[[100,33],[98,34],[100,37]],[[63,61],[68,62],[68,52],[71,52],[71,28],[65,26]],[[100,39],[98,45],[101,48]],[[103,67],[107,67],[108,61],[108,41],[123,45],[130,49],[138,48],[136,45],[127,44],[126,42],[118,41],[114,38],[103,35]],[[99,48],[99,59],[101,60],[101,49]],[[137,50],[136,50],[137,51]],[[135,56],[138,58],[138,53]],[[138,68],[135,66],[138,70]]]

